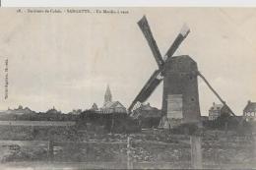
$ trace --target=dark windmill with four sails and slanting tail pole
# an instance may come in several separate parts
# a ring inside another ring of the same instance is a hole
[[[197,77],[200,76],[224,103],[229,112],[234,115],[221,96],[198,71],[197,63],[190,56],[173,56],[190,32],[186,25],[181,28],[163,58],[160,55],[159,47],[153,37],[146,16],[138,22],[138,26],[146,37],[159,68],[131,103],[128,108],[129,114],[132,113],[137,104],[145,102],[160,85],[160,82],[163,81],[162,115],[167,118],[181,118],[184,123],[199,122],[200,107]]]

